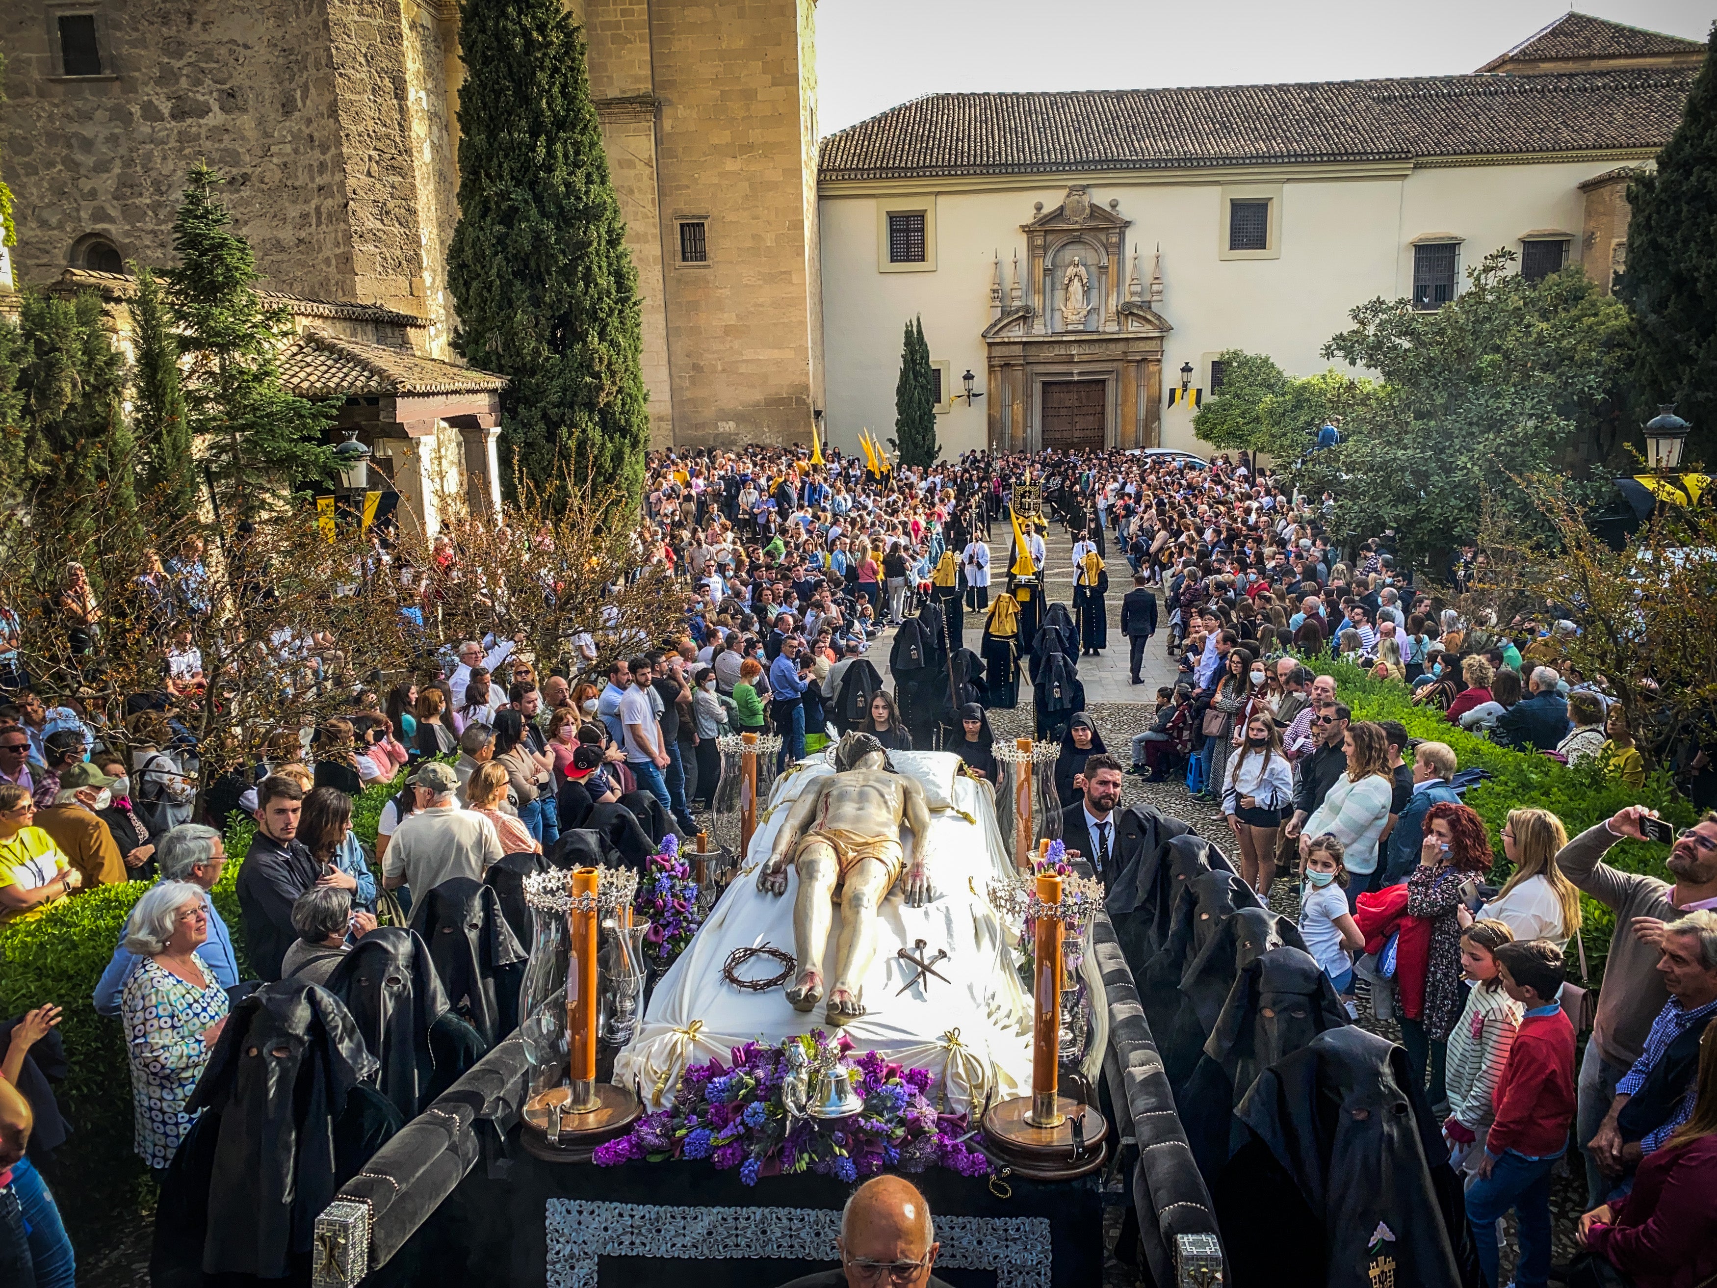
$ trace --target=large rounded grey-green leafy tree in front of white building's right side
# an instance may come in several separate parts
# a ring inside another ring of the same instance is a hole
[[[1338,495],[1338,536],[1392,529],[1405,558],[1437,565],[1477,536],[1487,483],[1511,522],[1544,531],[1538,508],[1504,481],[1568,472],[1578,448],[1617,436],[1616,390],[1633,364],[1626,306],[1578,268],[1526,282],[1511,259],[1485,256],[1435,313],[1408,299],[1362,304],[1353,328],[1324,345],[1324,357],[1380,378],[1341,445],[1298,474]]]

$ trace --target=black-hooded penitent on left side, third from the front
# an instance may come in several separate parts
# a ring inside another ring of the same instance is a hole
[[[453,1010],[486,1048],[519,1027],[525,950],[489,886],[469,876],[443,881],[417,900],[412,929],[429,945]]]

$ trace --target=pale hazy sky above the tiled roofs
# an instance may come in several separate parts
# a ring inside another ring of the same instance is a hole
[[[1717,0],[1578,7],[1695,39],[1717,19]],[[1471,72],[1564,12],[1556,0],[819,0],[819,124],[831,134],[944,91]]]

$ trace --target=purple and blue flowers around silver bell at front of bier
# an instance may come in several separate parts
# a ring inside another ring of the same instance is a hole
[[[598,1145],[598,1166],[709,1159],[719,1170],[738,1168],[745,1185],[802,1171],[848,1183],[884,1168],[989,1175],[989,1159],[968,1144],[967,1116],[937,1113],[929,1101],[929,1070],[891,1065],[876,1051],[850,1060],[852,1089],[864,1104],[858,1113],[833,1120],[790,1116],[781,1085],[790,1075],[786,1048],[793,1042],[812,1060],[852,1049],[845,1034],[829,1041],[819,1029],[781,1046],[733,1048],[728,1065],[692,1065],[680,1077],[673,1108],[646,1115],[628,1135]]]

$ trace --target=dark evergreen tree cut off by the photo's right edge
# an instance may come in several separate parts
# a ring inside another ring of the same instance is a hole
[[[1628,185],[1628,268],[1616,282],[1640,326],[1638,395],[1674,400],[1693,422],[1688,457],[1707,464],[1717,459],[1717,27],[1710,41],[1657,173]]]

